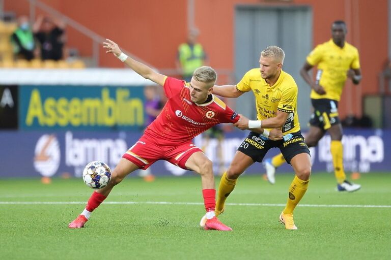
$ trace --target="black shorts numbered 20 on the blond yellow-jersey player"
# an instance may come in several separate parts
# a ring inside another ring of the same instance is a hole
[[[254,161],[261,163],[267,151],[274,147],[280,149],[288,164],[291,163],[291,159],[297,154],[310,154],[310,149],[305,144],[304,137],[300,131],[287,134],[280,141],[272,141],[258,133],[250,132],[239,146],[238,151],[250,156]]]

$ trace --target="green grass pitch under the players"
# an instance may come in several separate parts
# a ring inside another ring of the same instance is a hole
[[[219,217],[233,232],[199,228],[195,175],[129,177],[77,230],[67,225],[92,192],[81,179],[1,179],[0,259],[390,259],[391,173],[361,174],[353,193],[313,174],[294,213],[297,231],[278,223],[292,178],[240,177]]]

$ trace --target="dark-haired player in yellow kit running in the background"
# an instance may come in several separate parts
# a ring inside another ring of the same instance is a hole
[[[361,185],[346,179],[343,165],[342,125],[338,116],[338,102],[347,78],[354,84],[361,80],[360,63],[357,49],[345,41],[347,33],[344,21],[334,21],[328,42],[318,45],[306,58],[300,75],[311,86],[311,102],[314,112],[310,119],[310,131],[305,136],[308,147],[316,146],[326,132],[330,134],[330,151],[337,178],[338,191],[355,191]],[[316,81],[309,71],[317,66]],[[285,163],[282,154],[266,159],[264,166],[270,183],[275,182],[275,169]]]

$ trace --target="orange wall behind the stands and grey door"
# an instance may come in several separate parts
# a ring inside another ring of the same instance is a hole
[[[156,68],[174,68],[176,47],[186,39],[187,0],[43,0],[53,8],[120,43]],[[361,95],[378,92],[378,74],[388,56],[387,0],[292,0],[282,5],[308,5],[313,10],[314,45],[330,38],[330,24],[343,19],[348,24],[347,41],[359,49],[362,83],[346,85],[341,115],[361,113]],[[27,14],[25,0],[5,0],[5,10]],[[93,4],[91,4],[93,3]],[[281,5],[273,0],[194,0],[195,25],[210,64],[216,69],[234,68],[234,25],[236,5]],[[371,12],[368,12],[371,10]],[[91,41],[68,29],[68,46],[91,55]],[[373,50],[375,49],[375,51]],[[101,52],[101,66],[121,63]],[[349,104],[351,100],[350,106]]]

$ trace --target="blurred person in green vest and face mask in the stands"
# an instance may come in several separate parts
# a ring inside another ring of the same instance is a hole
[[[18,28],[11,35],[11,43],[16,58],[26,60],[32,60],[34,58],[36,45],[27,16],[20,16],[18,18]]]

